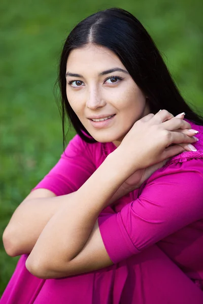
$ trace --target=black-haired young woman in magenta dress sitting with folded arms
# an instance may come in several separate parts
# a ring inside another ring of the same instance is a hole
[[[58,82],[77,135],[6,227],[21,257],[0,303],[202,303],[203,120],[151,37],[124,10],[91,15]]]

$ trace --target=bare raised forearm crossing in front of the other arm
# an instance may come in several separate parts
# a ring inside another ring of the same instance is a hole
[[[27,259],[26,267],[31,273],[36,275],[37,270],[44,271],[50,265],[60,272],[66,262],[78,255],[99,213],[128,177],[121,170],[120,158],[109,155],[74,193],[69,204],[52,216]]]

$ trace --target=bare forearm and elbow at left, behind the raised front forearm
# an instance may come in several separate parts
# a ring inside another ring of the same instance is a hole
[[[131,190],[120,186],[110,198],[112,204]],[[58,197],[32,198],[23,201],[13,213],[3,234],[6,252],[10,256],[29,254],[51,217],[63,206],[69,208],[74,193]]]

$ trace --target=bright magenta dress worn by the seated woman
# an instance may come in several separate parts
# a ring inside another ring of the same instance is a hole
[[[0,304],[202,304],[203,127],[194,144],[142,186],[104,209],[98,224],[113,265],[86,274],[43,280],[22,255]],[[57,196],[76,191],[114,149],[76,135],[35,187]]]

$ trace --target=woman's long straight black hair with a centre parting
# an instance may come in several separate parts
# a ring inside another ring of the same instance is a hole
[[[65,40],[60,62],[58,84],[61,100],[63,146],[64,121],[67,115],[77,134],[86,142],[96,142],[82,125],[66,96],[66,62],[76,48],[87,44],[106,47],[121,60],[134,82],[149,99],[152,113],[166,109],[174,116],[185,112],[185,118],[197,125],[203,119],[185,102],[155,43],[140,21],[129,12],[111,8],[99,11],[78,23]]]

